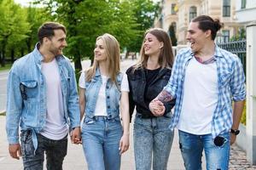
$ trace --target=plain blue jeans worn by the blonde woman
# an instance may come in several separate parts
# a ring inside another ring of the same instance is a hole
[[[95,116],[84,119],[82,140],[89,170],[119,170],[119,141],[123,130],[120,119]]]

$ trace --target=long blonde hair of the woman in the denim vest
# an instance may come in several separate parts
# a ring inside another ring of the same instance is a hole
[[[116,76],[120,71],[120,48],[119,42],[112,35],[105,33],[96,38],[96,41],[102,39],[103,47],[106,49],[108,73],[112,82],[116,83]],[[94,59],[93,65],[85,71],[85,81],[90,82],[92,77],[95,77],[98,61]]]

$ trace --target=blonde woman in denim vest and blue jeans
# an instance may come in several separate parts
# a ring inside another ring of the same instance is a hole
[[[119,42],[110,34],[97,37],[94,63],[79,78],[81,135],[89,170],[119,170],[120,155],[129,148],[129,85],[119,69]]]

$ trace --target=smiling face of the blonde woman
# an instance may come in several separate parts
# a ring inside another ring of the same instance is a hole
[[[102,38],[96,41],[96,46],[94,48],[94,59],[98,62],[107,60],[107,50]]]

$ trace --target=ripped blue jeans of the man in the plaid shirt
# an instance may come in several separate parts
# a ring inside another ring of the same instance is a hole
[[[181,130],[179,147],[186,170],[201,170],[202,150],[205,150],[207,170],[228,170],[230,159],[230,133],[195,135]]]

